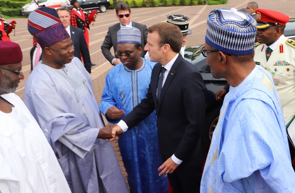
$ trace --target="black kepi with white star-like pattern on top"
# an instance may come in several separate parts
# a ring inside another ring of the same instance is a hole
[[[180,15],[180,14],[167,15],[167,22],[177,25],[183,35],[189,35],[192,33],[191,30],[189,29],[189,18],[184,15]]]

